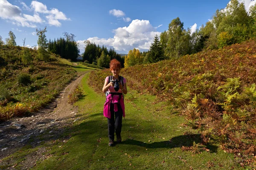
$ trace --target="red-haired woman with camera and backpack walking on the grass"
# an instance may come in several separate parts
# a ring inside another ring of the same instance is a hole
[[[108,118],[108,138],[109,146],[114,145],[114,133],[116,132],[116,142],[122,141],[122,117],[125,117],[125,105],[123,94],[127,94],[126,79],[119,76],[121,64],[118,60],[112,59],[109,63],[110,70],[113,76],[108,76],[105,79],[102,88],[103,93],[106,93],[106,102],[104,104],[103,115]],[[118,80],[119,89],[114,89],[114,82],[111,80]]]

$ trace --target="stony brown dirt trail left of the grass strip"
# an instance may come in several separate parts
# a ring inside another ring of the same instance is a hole
[[[30,116],[15,117],[0,124],[0,165],[12,164],[12,160],[7,162],[2,159],[25,145],[36,147],[41,142],[58,139],[65,127],[76,121],[78,108],[68,103],[68,95],[73,92],[87,72],[89,71],[79,73],[76,79],[67,85],[58,98],[46,108]],[[42,155],[45,151],[46,149],[42,147],[26,156],[21,168],[28,169],[35,166],[37,160],[46,159],[47,155]],[[15,169],[15,166],[9,169]]]

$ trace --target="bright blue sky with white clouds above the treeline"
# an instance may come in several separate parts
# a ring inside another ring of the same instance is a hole
[[[63,37],[63,32],[76,35],[80,52],[84,40],[100,46],[113,47],[127,54],[138,48],[147,51],[155,34],[168,29],[176,17],[184,28],[199,28],[217,9],[230,0],[0,0],[0,36],[5,40],[9,31],[17,45],[37,45],[35,29],[47,26],[47,39]],[[244,1],[246,8],[256,0]]]

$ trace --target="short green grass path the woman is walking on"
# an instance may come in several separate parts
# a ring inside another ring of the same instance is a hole
[[[200,144],[198,131],[183,127],[184,118],[172,113],[165,102],[155,104],[155,96],[130,89],[125,96],[123,141],[109,147],[107,119],[102,113],[105,96],[96,94],[87,82],[88,74],[81,82],[84,97],[75,103],[80,119],[63,134],[69,139],[43,144],[49,157],[32,169],[242,169],[233,154],[213,144]],[[182,146],[192,149],[186,151]]]

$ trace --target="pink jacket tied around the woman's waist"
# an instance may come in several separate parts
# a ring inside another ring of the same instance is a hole
[[[103,109],[103,115],[109,119],[111,119],[111,112],[110,112],[110,104],[111,102],[112,103],[116,103],[119,102],[119,96],[113,96],[113,99],[112,99],[112,96],[111,94],[109,94],[107,96],[107,99],[106,99],[106,102],[104,104],[104,109]],[[116,105],[115,104],[115,105]],[[121,99],[120,99],[120,105],[121,105],[121,108],[122,108],[122,111],[123,111],[123,117],[125,117],[125,103],[124,103],[124,100],[123,100],[123,96],[121,95]],[[116,110],[116,106],[114,107],[114,110]]]

